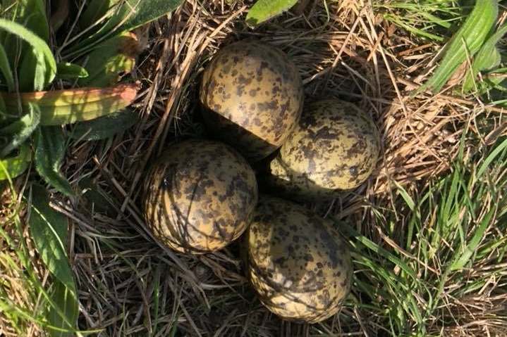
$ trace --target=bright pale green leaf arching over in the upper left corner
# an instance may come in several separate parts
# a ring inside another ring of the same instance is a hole
[[[49,46],[46,44],[46,42],[44,42],[43,39],[38,37],[30,30],[27,30],[25,27],[23,27],[23,25],[2,18],[0,18],[0,30],[6,30],[11,34],[17,35],[21,39],[28,42],[28,44],[32,47],[31,51],[33,52],[33,56],[35,56],[34,62],[35,67],[37,68],[37,72],[35,74],[28,74],[26,72],[23,72],[23,76],[31,75],[35,79],[35,84],[37,84],[38,87],[46,87],[47,84],[51,83],[51,81],[54,79],[54,76],[56,75],[56,61],[54,60],[51,49],[49,49]],[[21,70],[22,69],[20,69],[20,76]],[[42,84],[38,80],[41,74],[43,75]]]

